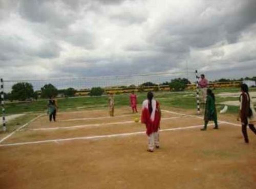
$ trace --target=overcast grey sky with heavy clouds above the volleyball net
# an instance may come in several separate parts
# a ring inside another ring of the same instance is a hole
[[[256,76],[256,0],[0,0],[0,76]]]

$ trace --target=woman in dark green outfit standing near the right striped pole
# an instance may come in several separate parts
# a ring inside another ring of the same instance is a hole
[[[217,121],[217,110],[215,106],[215,95],[212,93],[211,89],[207,89],[207,98],[204,112],[204,128],[202,131],[206,131],[207,124],[209,121],[214,121],[215,127],[214,129],[218,129],[218,121]]]

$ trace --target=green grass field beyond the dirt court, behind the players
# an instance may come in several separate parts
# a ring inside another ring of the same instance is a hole
[[[256,90],[256,88],[251,88]],[[215,94],[221,92],[239,92],[239,88],[217,88],[214,90]],[[146,92],[137,93],[138,105],[142,104],[143,100],[146,99]],[[185,92],[156,92],[155,98],[159,100],[162,105],[169,107],[178,107],[185,109],[195,109],[197,107],[195,91]],[[227,97],[220,98],[216,97],[217,103],[224,101],[237,101],[238,98]],[[67,98],[58,99],[59,111],[68,111],[69,109],[97,109],[102,107],[108,107],[108,96],[102,97],[81,97],[81,98]],[[115,95],[115,105],[129,106],[129,94]],[[68,109],[68,110],[67,110]],[[236,110],[235,110],[236,109]],[[6,104],[6,112],[8,114],[24,113],[24,112],[40,112],[47,110],[47,100],[35,101],[26,103],[10,103]],[[237,112],[236,107],[229,106],[228,112]]]

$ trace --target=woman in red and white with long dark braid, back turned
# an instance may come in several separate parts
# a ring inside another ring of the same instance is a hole
[[[147,93],[147,99],[143,101],[141,123],[146,125],[146,135],[148,138],[148,152],[154,152],[154,148],[159,148],[159,129],[161,120],[161,110],[159,102],[153,99],[152,92]]]

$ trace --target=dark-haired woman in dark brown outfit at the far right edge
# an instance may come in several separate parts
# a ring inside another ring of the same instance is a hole
[[[247,125],[251,131],[256,134],[256,129],[254,124],[256,124],[256,114],[253,107],[253,102],[249,95],[249,88],[246,84],[241,85],[241,95],[240,95],[240,111],[238,121],[241,121],[242,124],[242,133],[244,136],[245,143],[249,143],[248,134],[247,134]]]

